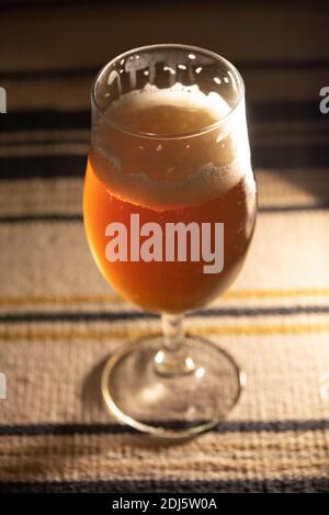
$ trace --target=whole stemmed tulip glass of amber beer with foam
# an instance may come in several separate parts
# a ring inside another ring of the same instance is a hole
[[[228,414],[245,378],[217,342],[183,323],[231,284],[252,237],[243,81],[213,52],[152,45],[111,60],[91,102],[88,242],[105,280],[162,317],[161,334],[146,316],[145,336],[110,356],[103,398],[140,432],[196,435]]]

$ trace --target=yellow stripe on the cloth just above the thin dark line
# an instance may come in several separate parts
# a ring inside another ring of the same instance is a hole
[[[223,295],[228,300],[248,299],[291,299],[299,296],[329,296],[329,288],[299,288],[292,290],[232,290]],[[25,305],[71,305],[71,304],[122,304],[126,301],[116,293],[106,295],[58,295],[58,296],[8,296],[0,298],[0,307]]]

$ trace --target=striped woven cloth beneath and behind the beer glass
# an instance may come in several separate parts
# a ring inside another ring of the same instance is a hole
[[[325,13],[280,3],[270,21],[253,4],[237,16],[229,7],[220,13],[193,3],[186,34],[193,16],[205,29],[182,38],[182,5],[168,13],[63,3],[8,3],[1,12],[9,113],[0,115],[0,372],[8,387],[0,492],[329,490],[329,115],[318,108],[328,77]],[[248,29],[251,16],[249,45],[229,45],[232,23]],[[129,46],[169,40],[169,18],[171,41],[240,64],[260,212],[234,287],[186,320],[191,333],[235,356],[248,388],[214,430],[163,446],[111,419],[100,399],[109,354],[157,333],[160,321],[101,278],[81,194],[93,72]],[[146,30],[149,40],[140,37]]]

